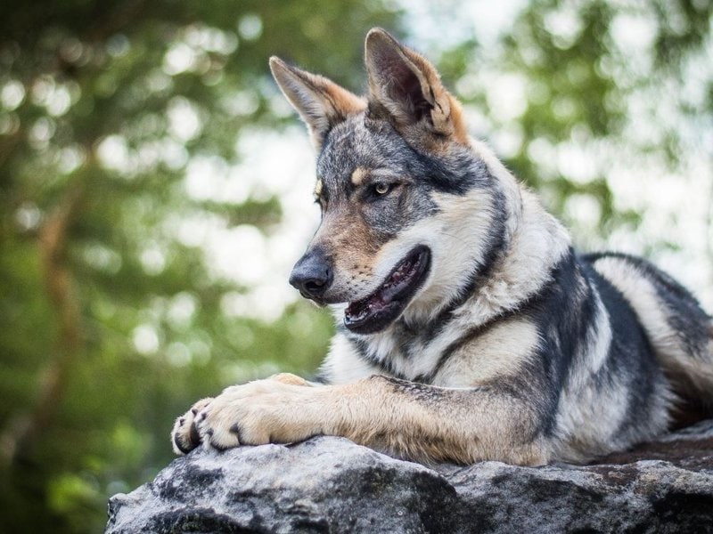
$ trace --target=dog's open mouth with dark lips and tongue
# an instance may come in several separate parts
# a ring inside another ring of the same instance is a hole
[[[429,248],[415,247],[372,295],[349,303],[344,326],[356,334],[374,334],[388,327],[406,309],[429,268]]]

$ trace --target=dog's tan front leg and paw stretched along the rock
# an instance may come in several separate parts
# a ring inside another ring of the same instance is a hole
[[[420,461],[541,465],[550,454],[534,438],[535,420],[533,409],[494,386],[447,389],[371,376],[311,387],[283,375],[225,389],[193,425],[176,422],[173,441],[226,449],[328,434]]]

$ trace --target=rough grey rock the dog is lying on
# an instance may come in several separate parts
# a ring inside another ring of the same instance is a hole
[[[713,420],[596,465],[423,466],[343,438],[195,450],[107,532],[713,532]]]

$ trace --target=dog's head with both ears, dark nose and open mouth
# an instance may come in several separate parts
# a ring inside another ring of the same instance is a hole
[[[436,69],[381,29],[366,36],[365,63],[367,98],[275,57],[270,67],[317,150],[322,223],[290,282],[372,334],[457,297],[504,210]]]

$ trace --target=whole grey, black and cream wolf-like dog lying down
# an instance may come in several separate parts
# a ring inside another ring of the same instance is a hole
[[[322,222],[291,273],[337,332],[318,379],[228,387],[203,445],[345,436],[396,457],[581,463],[713,402],[713,321],[643,259],[578,255],[420,54],[366,36],[368,95],[272,58],[316,147]]]

